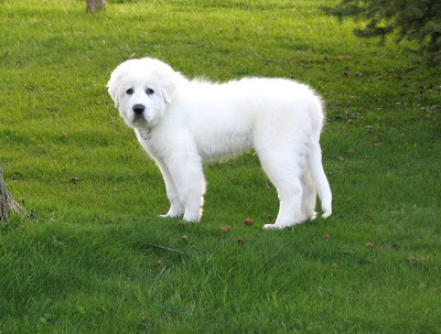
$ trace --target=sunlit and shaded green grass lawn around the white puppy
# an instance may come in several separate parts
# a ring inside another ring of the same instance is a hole
[[[0,1],[0,159],[37,216],[0,225],[0,333],[440,333],[440,68],[334,1],[84,2]],[[249,152],[206,166],[201,224],[157,218],[162,177],[105,88],[130,56],[313,86],[333,216],[263,231]]]

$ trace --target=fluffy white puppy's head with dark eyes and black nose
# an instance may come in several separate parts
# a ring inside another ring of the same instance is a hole
[[[107,83],[119,114],[131,128],[151,128],[172,103],[184,77],[154,58],[130,60],[120,64]]]

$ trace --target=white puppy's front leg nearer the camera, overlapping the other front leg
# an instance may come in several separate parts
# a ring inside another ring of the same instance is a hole
[[[205,193],[201,158],[196,153],[192,154],[187,151],[175,154],[173,159],[169,160],[166,166],[185,207],[184,220],[200,222]]]

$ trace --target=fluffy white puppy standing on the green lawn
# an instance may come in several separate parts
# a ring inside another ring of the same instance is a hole
[[[282,78],[225,84],[189,80],[155,58],[129,60],[110,75],[108,91],[126,123],[162,172],[170,209],[163,217],[200,222],[203,163],[254,149],[280,201],[275,224],[284,228],[323,217],[332,194],[323,171],[321,98]]]

